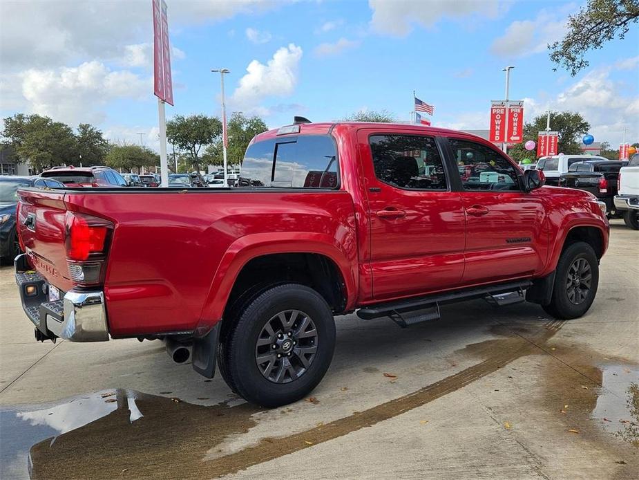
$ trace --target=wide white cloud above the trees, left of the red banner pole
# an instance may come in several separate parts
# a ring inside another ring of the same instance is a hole
[[[71,125],[99,123],[106,118],[100,108],[109,100],[149,98],[151,78],[131,71],[112,71],[102,62],[77,67],[36,69],[12,75],[21,84],[23,107]]]

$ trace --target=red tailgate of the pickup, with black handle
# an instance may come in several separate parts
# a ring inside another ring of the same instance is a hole
[[[16,225],[32,266],[48,283],[61,290],[73,288],[64,245],[66,206],[64,192],[19,190]]]

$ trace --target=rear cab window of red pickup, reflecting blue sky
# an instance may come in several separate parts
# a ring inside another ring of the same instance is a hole
[[[336,188],[337,151],[332,137],[306,135],[264,140],[249,146],[238,186]]]

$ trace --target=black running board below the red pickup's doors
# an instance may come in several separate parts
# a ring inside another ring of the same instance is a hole
[[[417,312],[423,309],[433,308],[437,304],[449,304],[455,302],[461,302],[463,300],[470,300],[473,298],[486,298],[490,297],[499,297],[500,294],[510,294],[516,293],[519,296],[522,293],[523,298],[523,290],[526,288],[530,288],[533,285],[533,282],[530,280],[524,281],[515,281],[508,284],[499,284],[499,285],[490,285],[483,286],[477,288],[468,288],[466,290],[457,290],[454,292],[447,293],[436,293],[434,295],[427,295],[426,297],[419,298],[409,298],[405,300],[400,300],[399,302],[388,302],[384,304],[375,304],[371,306],[366,306],[364,308],[360,308],[357,311],[357,316],[363,320],[372,320],[374,318],[379,317],[392,317],[392,315],[401,315],[401,317],[408,316],[408,312]],[[504,299],[499,297],[499,301],[504,302]],[[518,302],[519,300],[517,300]],[[515,302],[509,302],[515,303]],[[495,300],[495,304],[499,304],[497,300]],[[504,303],[502,303],[504,304]],[[508,303],[506,303],[508,304]],[[429,317],[430,316],[430,317]],[[417,317],[420,317],[419,315]],[[435,320],[435,317],[432,317],[432,311],[430,315],[421,315],[421,317],[428,317],[426,320]],[[437,318],[439,318],[439,308],[437,310]],[[414,322],[406,322],[406,324],[417,323],[419,320]]]

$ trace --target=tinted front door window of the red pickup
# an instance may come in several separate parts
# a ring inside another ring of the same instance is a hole
[[[449,138],[464,190],[519,190],[518,170],[497,151]]]

